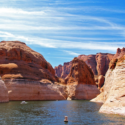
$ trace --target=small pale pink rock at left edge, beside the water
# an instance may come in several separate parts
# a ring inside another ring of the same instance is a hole
[[[5,83],[0,78],[0,102],[8,102],[8,90]]]

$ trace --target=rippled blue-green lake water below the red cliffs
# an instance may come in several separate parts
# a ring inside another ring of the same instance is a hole
[[[89,101],[11,101],[0,104],[0,125],[124,125],[125,117],[99,113]],[[64,123],[64,116],[69,122]]]

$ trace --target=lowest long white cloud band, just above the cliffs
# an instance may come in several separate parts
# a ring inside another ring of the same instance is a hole
[[[89,49],[89,50],[110,50],[116,51],[118,47],[122,48],[124,46],[124,42],[72,42],[72,41],[64,41],[64,40],[55,40],[55,39],[45,39],[39,37],[25,37],[25,36],[15,36],[8,32],[0,32],[3,33],[1,37],[5,38],[4,40],[20,40],[26,42],[27,44],[36,44],[42,47],[48,48],[63,48],[63,49]],[[79,53],[74,53],[71,51],[65,50],[65,52],[70,55],[79,55]]]

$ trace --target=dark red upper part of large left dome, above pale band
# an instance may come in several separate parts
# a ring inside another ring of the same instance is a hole
[[[19,41],[0,43],[0,76],[2,79],[49,79],[56,81],[55,71],[44,57]]]

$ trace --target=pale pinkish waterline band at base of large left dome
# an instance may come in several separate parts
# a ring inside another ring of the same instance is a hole
[[[42,82],[6,80],[10,100],[66,100],[66,86]]]

